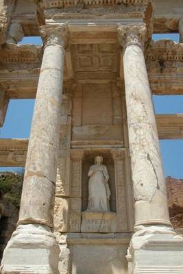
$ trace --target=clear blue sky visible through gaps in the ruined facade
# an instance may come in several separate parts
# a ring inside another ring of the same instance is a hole
[[[178,42],[178,34],[154,34],[154,40],[170,38]],[[24,38],[21,44],[42,43],[40,38]],[[183,113],[182,96],[154,96],[154,107],[157,114]],[[0,138],[29,138],[32,122],[34,99],[10,100],[5,123],[0,128]],[[183,140],[160,140],[164,175],[175,178],[183,178]],[[13,170],[2,168],[0,171]]]

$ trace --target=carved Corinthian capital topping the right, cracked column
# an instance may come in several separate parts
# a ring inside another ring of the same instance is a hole
[[[125,49],[130,45],[143,48],[145,42],[146,26],[145,23],[119,25],[119,42]]]

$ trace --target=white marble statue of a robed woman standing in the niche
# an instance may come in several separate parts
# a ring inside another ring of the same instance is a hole
[[[109,212],[110,188],[108,169],[102,164],[102,156],[95,157],[95,164],[88,171],[88,208],[90,212]]]

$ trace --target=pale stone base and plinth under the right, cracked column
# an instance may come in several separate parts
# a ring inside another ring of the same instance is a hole
[[[169,226],[135,227],[127,251],[129,274],[183,274],[183,238]]]

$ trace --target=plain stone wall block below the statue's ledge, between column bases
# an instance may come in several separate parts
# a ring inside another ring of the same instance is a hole
[[[127,274],[126,248],[127,245],[112,245],[110,239],[103,239],[103,243],[100,238],[95,242],[88,240],[88,245],[79,244],[78,240],[77,245],[70,247],[72,274]]]

